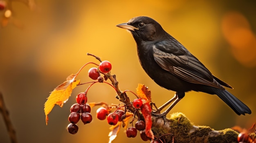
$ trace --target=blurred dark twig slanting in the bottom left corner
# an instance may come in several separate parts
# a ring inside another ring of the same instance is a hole
[[[7,127],[8,134],[11,139],[11,143],[18,143],[16,139],[16,132],[13,128],[13,125],[11,123],[11,119],[9,117],[9,112],[4,104],[4,98],[2,96],[2,92],[0,91],[0,112],[2,113],[2,116],[4,118],[4,123]]]

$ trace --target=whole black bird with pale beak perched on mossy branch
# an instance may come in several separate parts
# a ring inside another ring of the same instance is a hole
[[[158,113],[173,102],[162,114],[155,114],[158,117],[165,117],[185,96],[185,92],[191,90],[218,95],[238,115],[252,113],[242,101],[223,87],[232,88],[231,86],[212,75],[195,56],[152,18],[139,16],[117,26],[132,33],[137,44],[139,62],[149,77],[159,86],[176,92],[171,100],[159,108]]]

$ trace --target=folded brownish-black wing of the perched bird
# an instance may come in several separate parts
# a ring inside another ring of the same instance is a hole
[[[180,43],[157,42],[153,46],[153,56],[161,68],[185,81],[223,89],[211,72]]]

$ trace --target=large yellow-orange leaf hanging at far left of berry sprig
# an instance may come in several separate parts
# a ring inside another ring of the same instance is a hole
[[[76,87],[77,84],[80,83],[80,80],[75,80],[76,74],[72,74],[67,77],[66,81],[64,81],[61,85],[54,88],[51,92],[47,101],[45,102],[45,121],[46,125],[48,123],[48,114],[52,111],[52,108],[56,105],[62,107],[63,104],[70,97],[72,90]]]

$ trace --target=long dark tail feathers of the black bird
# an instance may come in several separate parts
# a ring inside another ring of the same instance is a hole
[[[232,95],[227,90],[222,90],[218,88],[212,88],[211,90],[214,94],[218,95],[220,99],[222,99],[230,108],[232,108],[236,114],[240,115],[245,113],[251,114],[252,111],[239,99],[237,99],[234,95]]]

